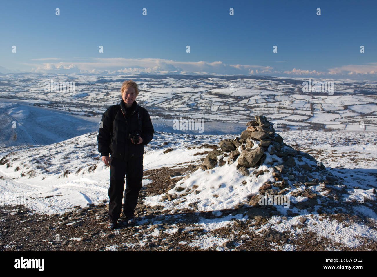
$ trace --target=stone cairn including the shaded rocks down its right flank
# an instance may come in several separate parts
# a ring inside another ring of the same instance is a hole
[[[309,181],[307,176],[313,171],[324,170],[323,164],[317,166],[317,161],[312,156],[307,153],[298,151],[290,147],[283,142],[283,138],[275,133],[273,124],[267,120],[263,115],[254,116],[255,120],[247,122],[247,129],[242,131],[240,137],[235,139],[223,139],[219,142],[221,149],[213,150],[205,157],[201,165],[203,170],[212,169],[216,165],[223,166],[227,162],[232,164],[237,161],[237,169],[244,176],[259,176],[264,174],[269,170],[256,170],[250,173],[250,169],[257,168],[262,165],[266,159],[266,154],[276,155],[282,159],[282,163],[272,167],[277,159],[270,159],[267,165],[273,169],[273,176],[275,182],[270,184],[270,182],[265,183],[259,190],[259,193],[264,194],[266,191],[268,194],[285,194],[288,192],[290,185],[288,184],[287,178],[283,178],[282,175],[288,177],[288,180],[297,181],[293,184],[293,187],[299,187],[301,185],[311,186],[317,185],[318,180]],[[255,147],[254,145],[257,144]],[[269,147],[272,145],[272,147]],[[268,150],[270,149],[270,150]],[[240,151],[241,150],[241,153]],[[218,157],[221,158],[218,158]],[[296,165],[296,159],[302,161],[302,158],[310,160],[310,162]],[[281,161],[281,160],[280,160]],[[299,171],[301,174],[299,176],[294,176],[293,171]],[[244,181],[246,184],[246,181]],[[300,183],[299,183],[300,182]],[[272,186],[276,189],[272,189]],[[287,189],[288,188],[288,189]],[[314,200],[316,203],[316,193],[311,190],[302,191],[302,193],[294,193],[293,196],[307,196],[310,200]],[[254,199],[254,200],[253,200]],[[255,195],[250,200],[250,205],[257,206],[257,195]],[[305,205],[314,205],[311,201],[305,202]]]

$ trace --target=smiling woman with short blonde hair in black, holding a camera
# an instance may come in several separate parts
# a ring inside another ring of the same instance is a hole
[[[98,151],[104,164],[110,166],[107,228],[112,230],[116,228],[121,213],[124,176],[123,213],[127,224],[135,222],[135,207],[143,180],[144,145],[152,140],[154,133],[149,113],[135,101],[138,95],[138,85],[132,80],[124,81],[120,104],[106,110],[98,130]]]

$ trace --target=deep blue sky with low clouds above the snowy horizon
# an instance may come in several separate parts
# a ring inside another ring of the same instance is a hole
[[[0,72],[375,80],[376,11],[377,1],[6,1]]]

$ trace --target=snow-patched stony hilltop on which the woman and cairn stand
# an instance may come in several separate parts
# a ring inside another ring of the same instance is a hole
[[[324,168],[285,172],[268,164],[273,160],[267,157],[251,167],[248,176],[239,171],[237,160],[204,170],[201,165],[220,149],[219,142],[233,141],[235,135],[156,132],[144,155],[137,225],[113,232],[103,228],[109,168],[97,153],[96,132],[3,155],[1,201],[27,207],[2,206],[2,221],[8,226],[0,236],[2,249],[375,249],[374,133],[277,133],[298,151],[293,159],[309,154],[317,161],[313,168],[318,161]],[[253,195],[267,190],[289,194],[289,208],[250,203]],[[12,223],[14,219],[21,220],[20,225]],[[11,238],[15,232],[20,234],[17,243]],[[25,239],[30,233],[35,236],[32,243]],[[59,240],[54,239],[57,235]]]

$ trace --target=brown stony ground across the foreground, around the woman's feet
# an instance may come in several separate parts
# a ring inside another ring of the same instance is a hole
[[[22,205],[0,206],[0,249],[2,251],[281,251],[290,250],[287,245],[294,246],[299,251],[323,251],[328,249],[342,249],[343,251],[376,250],[377,242],[364,239],[364,244],[357,248],[345,247],[341,243],[325,237],[319,238],[316,233],[307,231],[307,217],[298,213],[291,213],[282,217],[283,221],[298,217],[299,223],[293,228],[302,228],[300,236],[292,236],[290,231],[280,233],[274,229],[267,229],[262,234],[256,234],[251,229],[258,229],[268,223],[268,220],[279,212],[273,205],[265,207],[234,207],[222,210],[221,215],[212,212],[197,212],[193,210],[171,213],[162,211],[162,207],[149,207],[143,204],[146,196],[161,194],[169,190],[169,185],[178,179],[172,176],[190,173],[195,165],[182,168],[162,168],[148,170],[152,183],[143,187],[139,195],[136,208],[136,224],[123,225],[124,217],[118,221],[116,230],[106,229],[107,200],[97,206],[74,207],[62,215],[37,214]],[[182,178],[182,177],[181,177]],[[328,213],[326,207],[313,211],[322,219],[331,218],[339,222],[364,222],[373,225],[368,220],[344,213]],[[260,213],[262,211],[262,213]],[[248,214],[246,221],[233,219],[233,224],[218,229],[204,230],[198,227],[203,219],[219,219],[228,215]],[[258,214],[260,216],[254,216]],[[254,218],[253,218],[254,217]],[[142,224],[141,224],[142,222]],[[158,222],[158,223],[155,223]],[[167,233],[165,232],[167,231]],[[170,231],[170,232],[169,232]],[[261,236],[262,235],[262,236]],[[203,238],[218,240],[211,247],[192,242],[200,242]]]

